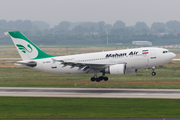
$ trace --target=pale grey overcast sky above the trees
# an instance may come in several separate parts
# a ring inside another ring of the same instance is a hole
[[[180,0],[0,0],[0,20],[61,21],[114,24],[180,21]]]

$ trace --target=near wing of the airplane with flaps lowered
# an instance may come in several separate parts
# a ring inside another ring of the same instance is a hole
[[[74,62],[74,61],[65,61],[65,60],[55,60],[53,59],[53,62],[61,62],[63,64],[63,67],[71,66],[71,69],[74,67],[78,67],[78,70],[83,70],[85,73],[93,71],[103,71],[105,68],[111,65],[115,65],[117,63],[87,63],[87,62]],[[125,62],[121,62],[118,64],[126,64]]]

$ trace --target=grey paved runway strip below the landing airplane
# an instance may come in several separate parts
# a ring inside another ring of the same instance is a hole
[[[180,90],[0,87],[0,96],[180,99]]]

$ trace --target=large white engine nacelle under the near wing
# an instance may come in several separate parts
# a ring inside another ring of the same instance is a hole
[[[111,75],[123,75],[126,74],[126,65],[125,64],[111,65],[105,69],[105,72]]]

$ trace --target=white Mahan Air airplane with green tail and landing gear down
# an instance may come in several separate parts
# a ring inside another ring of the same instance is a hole
[[[6,35],[10,35],[22,58],[21,61],[13,62],[15,65],[60,74],[94,73],[90,80],[96,82],[108,81],[109,78],[105,74],[137,73],[138,69],[149,67],[152,67],[152,76],[155,76],[156,66],[176,57],[173,52],[156,47],[53,56],[40,50],[19,31],[6,32]],[[100,72],[102,76],[98,77],[97,74]]]

